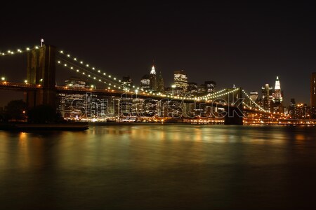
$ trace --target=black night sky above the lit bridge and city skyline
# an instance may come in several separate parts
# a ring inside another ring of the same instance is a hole
[[[153,59],[168,86],[180,69],[192,82],[215,80],[218,90],[235,84],[260,93],[279,76],[284,105],[291,98],[310,103],[309,79],[316,71],[312,1],[103,4],[3,4],[0,51],[39,45],[44,38],[118,78],[130,75],[137,85]],[[0,74],[25,77],[26,66],[4,63],[0,59]],[[70,74],[58,69],[58,76],[60,84]]]

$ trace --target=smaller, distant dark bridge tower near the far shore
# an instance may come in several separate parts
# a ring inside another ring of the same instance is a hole
[[[239,90],[232,94],[232,102],[234,102],[235,106],[228,106],[227,114],[224,121],[225,125],[243,125],[243,101],[244,97],[242,95],[242,87],[239,87]]]

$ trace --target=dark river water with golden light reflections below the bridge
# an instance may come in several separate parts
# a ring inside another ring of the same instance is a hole
[[[316,127],[0,131],[0,209],[315,209]]]

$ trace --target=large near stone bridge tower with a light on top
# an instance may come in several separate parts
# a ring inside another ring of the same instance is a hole
[[[55,47],[43,45],[27,54],[27,83],[41,85],[34,91],[27,91],[28,108],[47,104],[55,109]]]

